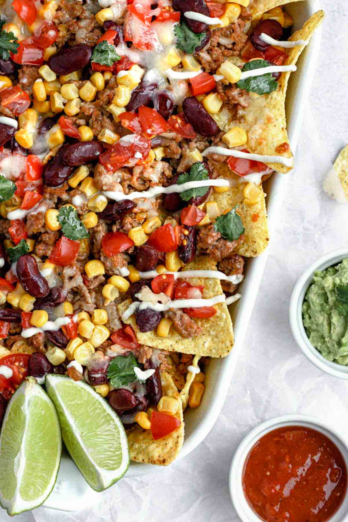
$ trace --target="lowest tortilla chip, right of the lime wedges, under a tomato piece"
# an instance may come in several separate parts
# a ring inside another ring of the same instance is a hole
[[[180,396],[169,373],[161,373],[163,395],[178,400],[179,407],[175,417],[181,421],[181,425],[170,435],[154,441],[151,430],[141,430],[134,426],[127,430],[130,459],[136,462],[167,466],[177,457],[184,443],[184,416]]]

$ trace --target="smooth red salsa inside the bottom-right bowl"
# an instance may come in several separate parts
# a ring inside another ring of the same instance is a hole
[[[341,505],[346,486],[338,447],[304,426],[261,437],[244,464],[244,494],[267,522],[325,522]]]

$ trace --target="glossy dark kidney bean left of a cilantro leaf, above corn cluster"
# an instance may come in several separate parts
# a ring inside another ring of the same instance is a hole
[[[87,65],[92,56],[92,48],[84,43],[74,47],[63,47],[50,56],[47,64],[56,74],[70,74],[74,70],[82,69]]]

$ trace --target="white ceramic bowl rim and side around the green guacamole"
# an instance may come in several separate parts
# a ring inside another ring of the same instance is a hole
[[[342,259],[346,257],[348,257],[348,248],[342,248],[341,250],[335,250],[334,252],[325,254],[325,256],[320,257],[313,265],[310,265],[295,284],[290,300],[289,311],[290,326],[294,339],[306,357],[323,372],[329,373],[334,377],[340,377],[341,379],[348,379],[348,366],[328,361],[322,357],[321,353],[310,343],[303,326],[302,304],[307,288],[313,279],[314,272],[316,270],[325,270],[329,266],[338,265]]]

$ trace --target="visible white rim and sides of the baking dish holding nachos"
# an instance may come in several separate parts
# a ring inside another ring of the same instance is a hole
[[[289,4],[287,9],[295,21],[295,29],[298,29],[319,9],[319,0],[307,0],[306,2]],[[289,81],[286,115],[293,152],[296,150],[298,137],[301,132],[304,106],[308,99],[309,89],[315,72],[320,39],[321,29],[319,28],[299,59],[297,72],[291,75]],[[285,194],[289,176],[291,176],[291,173],[287,175],[273,175],[267,183],[267,207],[271,238],[279,216],[279,208]],[[239,352],[243,347],[244,336],[251,312],[253,311],[267,256],[268,250],[261,256],[250,259],[247,263],[246,278],[238,289],[242,294],[242,298],[235,305],[231,306],[235,345],[228,357],[211,360],[205,381],[206,391],[201,405],[195,410],[187,409],[185,412],[185,442],[178,457],[179,459],[184,458],[202,442],[220,414],[233,377]],[[131,462],[127,471],[127,477],[137,477],[154,469],[158,468],[148,464]],[[165,468],[163,468],[162,472],[165,473]],[[117,488],[117,486],[114,487]],[[98,499],[98,493],[94,492],[85,482],[73,460],[69,456],[63,455],[56,485],[44,506],[63,511],[78,511],[95,502],[95,497]]]

